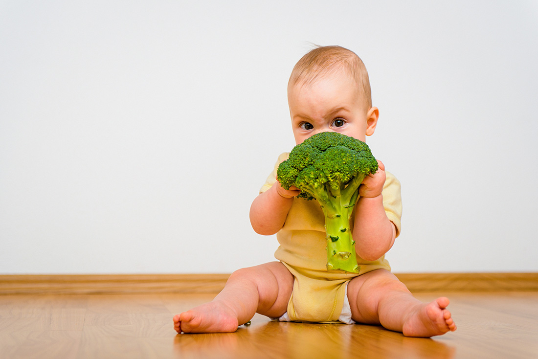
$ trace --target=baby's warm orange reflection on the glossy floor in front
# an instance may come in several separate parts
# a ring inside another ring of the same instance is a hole
[[[174,337],[181,358],[436,358],[454,357],[455,348],[435,339],[408,338],[363,325],[262,321],[235,333]]]

